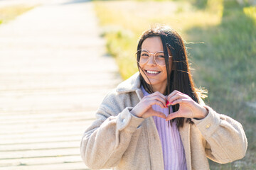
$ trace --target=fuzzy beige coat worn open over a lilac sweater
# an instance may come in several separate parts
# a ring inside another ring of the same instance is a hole
[[[81,156],[91,169],[164,169],[161,141],[153,118],[137,118],[130,111],[143,98],[139,74],[110,92],[81,141]],[[208,108],[202,120],[192,119],[179,129],[187,169],[209,169],[208,159],[220,164],[242,159],[247,139],[242,125]],[[171,161],[171,160],[170,160]]]

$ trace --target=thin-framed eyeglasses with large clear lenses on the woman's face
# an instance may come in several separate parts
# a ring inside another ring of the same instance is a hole
[[[139,58],[140,64],[149,62],[150,55],[154,55],[154,61],[156,62],[156,64],[158,64],[159,66],[166,65],[165,60],[164,60],[164,52],[162,52],[162,51],[151,53],[151,52],[148,52],[147,50],[138,50],[136,54],[139,54],[139,56],[140,56],[140,58]],[[169,55],[169,58],[171,58],[170,55]]]

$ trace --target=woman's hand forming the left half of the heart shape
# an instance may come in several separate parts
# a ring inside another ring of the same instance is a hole
[[[166,118],[164,113],[154,111],[152,106],[159,105],[161,108],[167,108],[166,106],[166,96],[161,94],[159,91],[150,94],[149,96],[144,96],[139,103],[132,109],[131,113],[140,118],[148,118],[150,116],[156,115],[160,118]]]

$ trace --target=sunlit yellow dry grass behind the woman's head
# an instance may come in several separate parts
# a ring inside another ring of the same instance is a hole
[[[117,58],[124,79],[137,71],[134,58],[137,40],[149,27],[167,23],[186,39],[184,30],[195,26],[216,26],[221,21],[220,13],[195,11],[186,2],[95,1],[95,8],[107,38],[107,47]],[[131,61],[131,67],[126,67],[124,61]]]

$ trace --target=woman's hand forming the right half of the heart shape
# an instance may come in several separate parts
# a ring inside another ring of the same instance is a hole
[[[169,96],[167,96],[166,105],[176,105],[179,104],[178,111],[171,113],[167,116],[167,120],[171,120],[174,118],[197,118],[203,119],[208,115],[208,111],[206,108],[201,106],[200,104],[193,101],[191,97],[186,94],[182,94],[180,91],[173,91]]]

